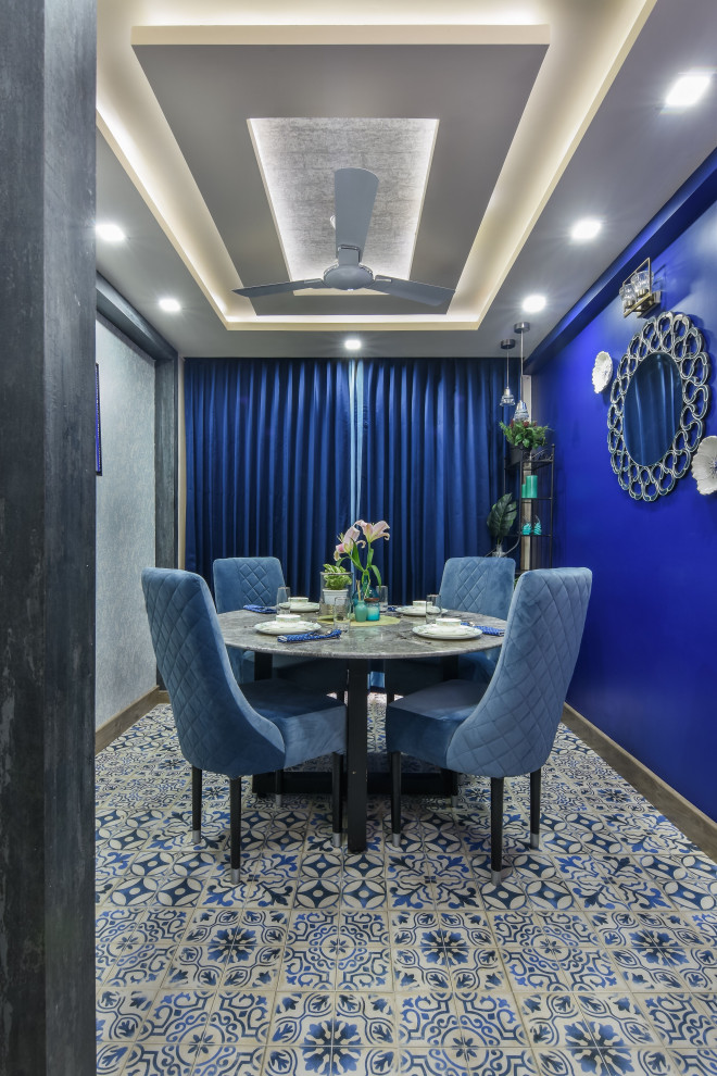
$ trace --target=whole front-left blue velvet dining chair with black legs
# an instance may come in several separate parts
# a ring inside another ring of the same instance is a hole
[[[152,645],[191,764],[192,836],[201,839],[202,772],[229,778],[231,880],[239,881],[241,778],[332,754],[334,843],[341,840],[341,755],[347,709],[325,695],[265,679],[241,687],[204,579],[177,568],[144,568]]]

